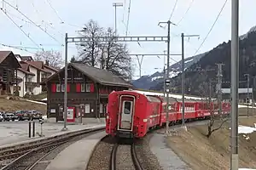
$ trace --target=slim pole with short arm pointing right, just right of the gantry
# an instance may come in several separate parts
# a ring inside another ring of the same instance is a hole
[[[182,114],[182,126],[185,127],[185,73],[184,73],[184,37],[200,37],[199,35],[184,35],[182,37],[182,95],[183,95],[183,114]]]

